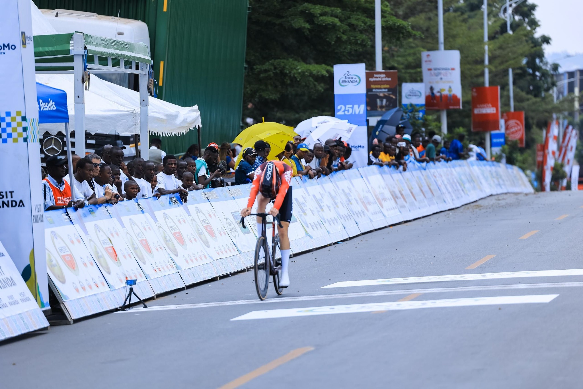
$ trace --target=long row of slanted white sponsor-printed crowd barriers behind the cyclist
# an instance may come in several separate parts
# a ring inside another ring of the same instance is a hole
[[[516,166],[454,161],[403,172],[367,166],[293,178],[292,253],[507,192],[532,192]],[[45,212],[52,292],[72,320],[251,267],[256,223],[240,225],[251,184]],[[268,208],[269,209],[269,208]],[[254,209],[254,212],[256,210]],[[269,232],[268,232],[269,233]]]

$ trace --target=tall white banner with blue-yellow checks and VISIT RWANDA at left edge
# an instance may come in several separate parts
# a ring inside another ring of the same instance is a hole
[[[1,17],[0,164],[19,174],[0,175],[0,240],[38,305],[48,308],[30,0],[3,1]]]

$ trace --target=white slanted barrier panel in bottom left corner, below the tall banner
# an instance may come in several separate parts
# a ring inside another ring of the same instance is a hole
[[[46,327],[43,311],[0,242],[0,340]]]

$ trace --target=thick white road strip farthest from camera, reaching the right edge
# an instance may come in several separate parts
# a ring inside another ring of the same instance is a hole
[[[423,277],[364,279],[362,281],[340,281],[321,288],[346,288],[347,286],[392,285],[398,283],[439,282],[439,281],[475,281],[480,279],[553,277],[567,275],[583,275],[583,269],[565,270],[533,270],[521,272],[431,275]]]

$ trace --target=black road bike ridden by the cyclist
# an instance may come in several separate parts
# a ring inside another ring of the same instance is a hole
[[[265,300],[267,297],[267,289],[269,288],[269,276],[273,277],[273,287],[278,295],[283,293],[283,288],[279,287],[279,274],[282,270],[281,258],[278,260],[275,255],[277,253],[277,248],[279,247],[279,234],[275,233],[275,223],[277,221],[278,226],[282,226],[277,216],[273,216],[273,221],[268,222],[267,216],[269,213],[251,213],[249,216],[259,216],[262,219],[262,233],[257,239],[257,244],[255,244],[255,289],[257,290],[257,296],[260,300]],[[272,225],[272,242],[271,250],[269,250],[269,245],[267,241],[267,225]],[[241,225],[245,227],[245,218],[241,218]]]

